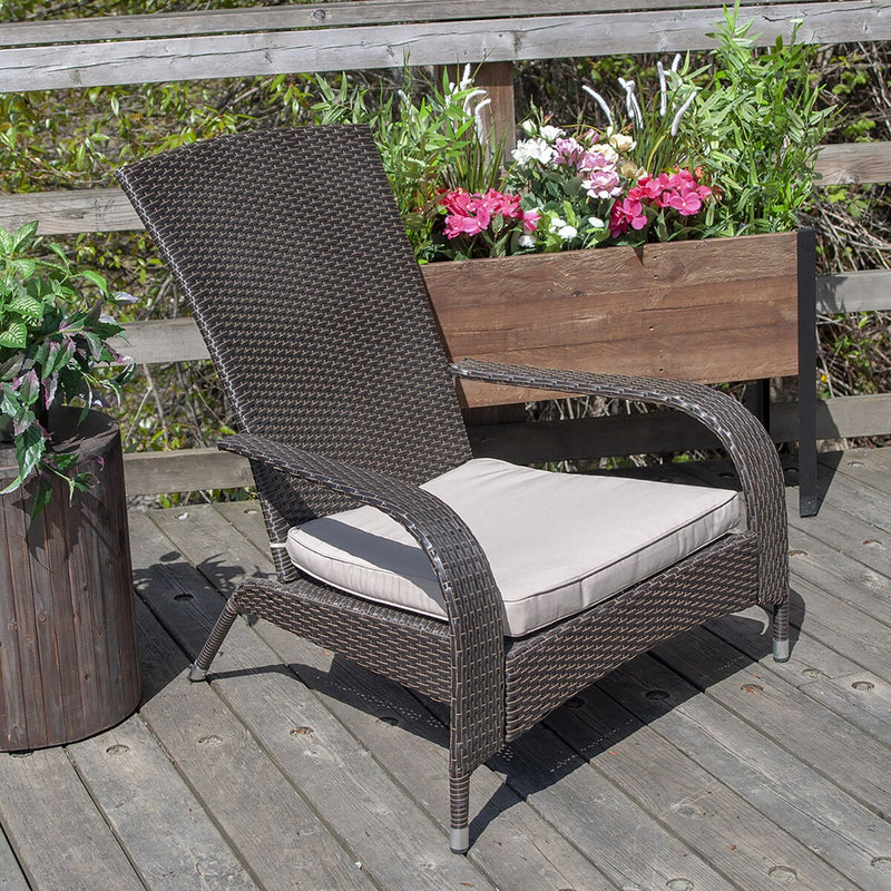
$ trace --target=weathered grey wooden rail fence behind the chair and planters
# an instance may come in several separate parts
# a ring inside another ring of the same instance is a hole
[[[891,39],[891,0],[743,0],[760,42]],[[513,130],[512,66],[528,59],[707,49],[722,18],[705,0],[363,0],[215,12],[120,16],[0,26],[0,91],[87,88],[203,78],[482,63],[493,126]],[[891,180],[891,143],[826,146],[822,183]],[[119,189],[0,195],[0,225],[38,219],[45,234],[138,229]],[[891,272],[821,276],[817,312],[891,310]],[[207,359],[189,319],[128,326],[127,352],[140,364]],[[774,407],[771,432],[795,439],[796,407]],[[820,403],[823,439],[891,433],[891,394]],[[574,423],[502,423],[471,430],[480,453],[520,461],[591,458],[694,448],[697,425],[675,414]],[[130,495],[251,484],[247,463],[214,449],[127,456]]]

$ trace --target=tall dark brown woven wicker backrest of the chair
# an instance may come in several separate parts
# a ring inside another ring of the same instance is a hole
[[[128,165],[118,179],[185,294],[243,431],[412,483],[470,457],[366,128],[218,137]],[[255,476],[268,500],[265,474]],[[274,538],[344,507],[287,488],[293,497],[278,491],[267,511]]]

